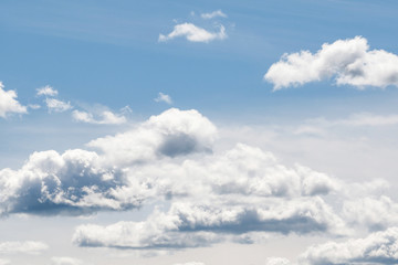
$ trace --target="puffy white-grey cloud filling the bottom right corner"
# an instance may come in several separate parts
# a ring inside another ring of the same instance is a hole
[[[390,227],[365,239],[327,242],[310,247],[298,264],[396,264],[398,263],[398,229]]]

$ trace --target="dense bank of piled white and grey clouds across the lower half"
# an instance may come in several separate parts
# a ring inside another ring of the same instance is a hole
[[[217,138],[217,127],[197,110],[171,108],[129,131],[88,142],[90,150],[34,152],[20,169],[0,170],[0,212],[82,215],[167,205],[140,222],[84,224],[73,235],[77,246],[119,250],[251,244],[261,235],[292,233],[334,239],[355,236],[360,227],[376,233],[354,241],[363,252],[350,253],[352,241],[326,243],[308,248],[298,262],[395,261],[396,230],[377,232],[398,222],[396,203],[373,193],[385,181],[349,183],[301,165],[287,167],[244,144],[214,151]],[[336,247],[350,254],[336,259]],[[362,254],[370,248],[378,254]]]

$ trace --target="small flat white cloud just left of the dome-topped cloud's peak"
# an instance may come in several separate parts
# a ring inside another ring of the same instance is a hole
[[[73,110],[72,117],[76,121],[87,123],[87,124],[97,124],[97,125],[119,125],[127,121],[126,117],[123,115],[114,114],[109,110],[104,110],[100,113],[98,118],[94,118],[94,115],[87,112]]]

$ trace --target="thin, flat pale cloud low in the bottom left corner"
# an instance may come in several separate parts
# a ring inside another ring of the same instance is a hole
[[[10,241],[0,242],[0,254],[40,254],[49,246],[39,241]]]

